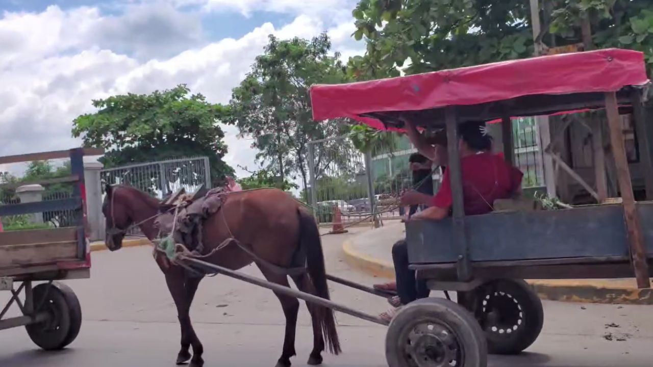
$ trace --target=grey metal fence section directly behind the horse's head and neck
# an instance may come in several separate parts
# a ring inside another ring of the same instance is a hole
[[[192,192],[202,185],[211,187],[208,157],[170,159],[140,163],[100,172],[101,181],[110,185],[130,185],[153,197],[163,199],[182,187]],[[104,187],[103,187],[104,193]]]

